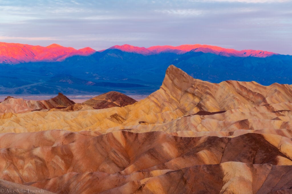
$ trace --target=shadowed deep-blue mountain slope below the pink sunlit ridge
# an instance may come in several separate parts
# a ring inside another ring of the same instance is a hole
[[[225,57],[211,53],[142,55],[107,49],[63,62],[0,64],[0,94],[89,94],[117,90],[147,95],[157,90],[169,65],[196,79],[292,84],[292,56]],[[65,90],[65,91],[64,91]]]

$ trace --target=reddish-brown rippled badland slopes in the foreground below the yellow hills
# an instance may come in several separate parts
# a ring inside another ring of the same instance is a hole
[[[96,135],[64,133],[53,145],[31,142],[32,148],[8,145],[1,151],[1,178],[55,193],[256,193],[291,187],[288,138],[253,133],[189,138],[158,131]]]

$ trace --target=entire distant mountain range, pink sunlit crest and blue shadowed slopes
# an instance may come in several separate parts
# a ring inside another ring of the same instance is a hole
[[[194,78],[220,83],[292,84],[292,56],[210,45],[48,47],[0,43],[0,94],[93,94],[112,90],[148,95],[173,64]]]

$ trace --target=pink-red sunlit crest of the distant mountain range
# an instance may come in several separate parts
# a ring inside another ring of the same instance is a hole
[[[212,53],[220,56],[235,57],[268,57],[278,55],[277,53],[261,50],[242,50],[225,49],[211,45],[180,45],[180,46],[152,46],[149,48],[135,47],[132,45],[115,45],[105,50],[118,49],[124,52],[136,53],[142,55],[155,55],[160,53],[185,54],[186,52]],[[101,50],[98,52],[102,52]],[[72,47],[63,47],[52,44],[47,47],[32,46],[19,43],[0,42],[0,63],[19,64],[28,62],[57,62],[63,61],[72,56],[89,56],[94,54],[94,49],[86,47],[83,49],[74,49]]]

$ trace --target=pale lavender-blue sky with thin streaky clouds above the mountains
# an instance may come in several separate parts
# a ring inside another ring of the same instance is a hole
[[[292,0],[0,0],[0,42],[205,44],[292,55]]]

